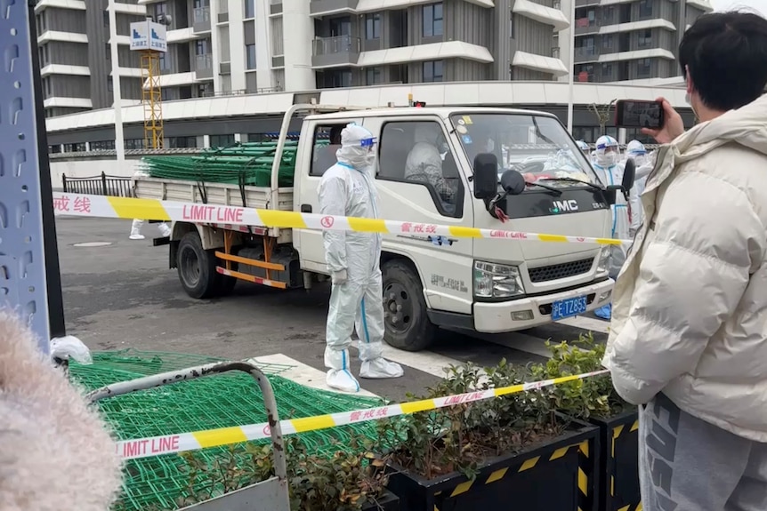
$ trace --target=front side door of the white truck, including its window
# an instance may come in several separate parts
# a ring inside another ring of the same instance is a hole
[[[426,307],[471,314],[472,239],[436,236],[429,228],[472,226],[472,197],[458,168],[455,154],[460,146],[455,133],[448,133],[438,116],[370,116],[363,125],[378,136],[375,185],[381,217],[414,224],[408,234],[383,236],[383,251],[400,254],[416,267],[419,275],[414,276],[423,284]],[[387,271],[386,266],[382,267],[384,296],[404,296],[392,290],[410,284],[397,281],[401,275]],[[408,296],[420,294],[420,290],[407,291]],[[397,305],[415,307],[415,302]],[[407,332],[400,337],[408,337]]]

